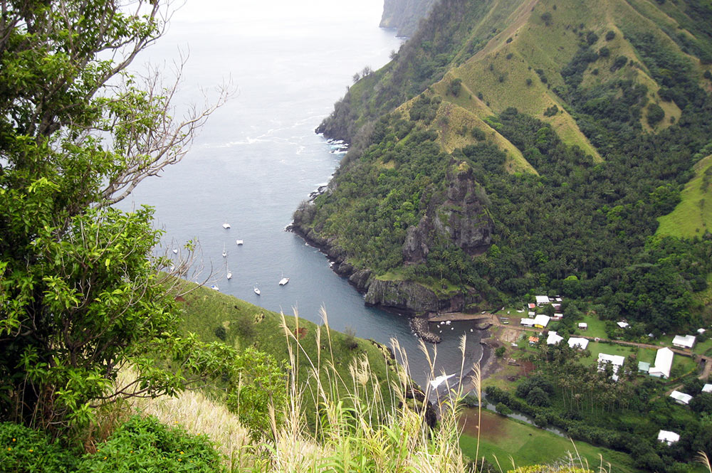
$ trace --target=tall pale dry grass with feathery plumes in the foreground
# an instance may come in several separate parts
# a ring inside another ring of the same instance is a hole
[[[223,405],[200,392],[186,392],[178,398],[136,400],[133,408],[155,415],[169,425],[179,423],[190,432],[205,433],[226,457],[230,472],[438,472],[473,471],[458,447],[459,413],[456,400],[461,384],[436,402],[439,421],[429,427],[433,414],[423,400],[430,397],[417,390],[408,376],[407,354],[392,341],[393,350],[404,366],[389,370],[386,381],[375,376],[367,356],[355,357],[344,378],[336,369],[334,349],[325,312],[324,325],[314,336],[323,346],[310,358],[298,336],[282,315],[282,329],[288,345],[288,402],[283,422],[270,410],[271,432],[253,440],[236,416]],[[434,366],[436,353],[424,353]],[[464,339],[461,342],[464,351]],[[431,358],[432,357],[432,358]],[[463,358],[464,359],[464,358]],[[303,361],[307,363],[303,363]],[[384,359],[384,363],[387,360]],[[300,382],[300,366],[308,366],[308,381]],[[433,373],[431,368],[431,373]],[[461,363],[461,376],[470,367]],[[473,367],[473,384],[481,398],[478,366]],[[315,402],[305,402],[305,400]],[[306,422],[305,405],[316,406],[315,426]]]

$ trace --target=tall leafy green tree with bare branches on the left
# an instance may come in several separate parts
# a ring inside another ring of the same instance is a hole
[[[152,211],[111,207],[179,161],[227,94],[180,121],[175,85],[127,72],[167,13],[157,0],[2,2],[2,420],[87,422],[99,405],[223,373],[236,355],[178,336]],[[115,385],[130,365],[136,380]]]

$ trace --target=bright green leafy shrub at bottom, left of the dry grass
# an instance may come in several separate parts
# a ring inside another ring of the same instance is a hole
[[[77,473],[224,472],[222,458],[205,435],[167,427],[155,417],[134,416]]]

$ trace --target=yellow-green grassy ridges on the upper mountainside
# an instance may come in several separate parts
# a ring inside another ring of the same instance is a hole
[[[666,8],[673,16],[684,16],[679,6]],[[553,15],[553,23],[550,26],[546,26],[541,19],[541,15],[547,11]],[[489,141],[507,153],[509,172],[532,172],[533,167],[523,158],[520,150],[515,149],[510,142],[482,121],[483,118],[502,112],[507,107],[516,107],[520,112],[549,122],[565,143],[576,145],[593,156],[595,161],[601,161],[597,149],[578,128],[575,117],[565,110],[565,103],[553,92],[556,87],[565,87],[559,71],[577,51],[581,24],[585,26],[585,31],[594,31],[599,36],[597,43],[591,46],[592,49],[596,51],[606,46],[610,50],[608,58],[600,58],[589,65],[582,87],[621,79],[641,83],[648,89],[649,103],[660,105],[665,112],[665,119],[652,129],[647,123],[647,110],[644,108],[641,117],[644,131],[656,132],[669,127],[671,121],[679,119],[681,110],[674,102],[664,102],[660,99],[659,84],[642,65],[636,51],[624,38],[621,28],[654,34],[671,51],[677,51],[689,58],[701,75],[705,66],[700,65],[697,58],[683,53],[662,29],[686,31],[678,28],[679,23],[673,16],[666,14],[649,0],[605,0],[593,4],[583,0],[563,4],[546,0],[519,4],[511,1],[496,2],[496,7],[472,26],[471,35],[473,38],[485,36],[483,31],[487,31],[487,28],[496,34],[471,58],[464,51],[459,51],[456,57],[459,66],[451,69],[443,80],[433,86],[434,92],[444,99],[444,105],[439,110],[439,122],[443,122],[443,117],[449,119],[447,127],[439,125],[441,144],[448,152],[470,144],[472,140],[457,131],[463,124],[479,127],[486,132]],[[574,32],[574,29],[577,29],[577,32]],[[605,41],[607,31],[616,33],[612,41]],[[618,55],[633,58],[637,65],[635,68],[624,67],[611,72],[609,68]],[[539,80],[534,71],[538,68],[544,71],[548,83],[544,84]],[[594,70],[596,73],[593,73]],[[463,92],[458,97],[446,93],[447,85],[455,78],[463,81]],[[531,85],[526,84],[527,79],[532,80]],[[700,80],[702,85],[706,85],[705,80]],[[483,94],[483,100],[477,98],[480,92]],[[456,107],[448,106],[446,102],[451,102]],[[552,105],[557,105],[560,112],[553,117],[545,117],[543,112]]]

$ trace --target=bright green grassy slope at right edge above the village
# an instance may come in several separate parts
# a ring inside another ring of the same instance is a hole
[[[674,211],[658,218],[660,226],[656,235],[693,238],[701,237],[706,230],[712,229],[712,182],[706,188],[702,185],[704,173],[708,169],[712,169],[712,156],[707,156],[695,165],[695,177],[680,194],[682,201]]]

